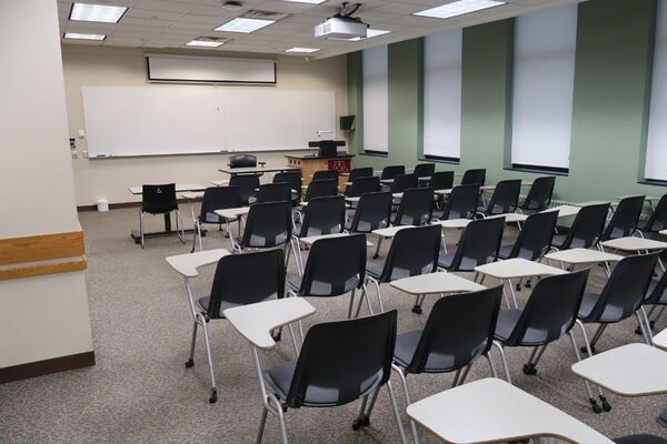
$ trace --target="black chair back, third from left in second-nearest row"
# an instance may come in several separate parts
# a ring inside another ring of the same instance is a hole
[[[416,226],[396,233],[385,266],[381,282],[432,273],[438,268],[440,238],[439,225]]]

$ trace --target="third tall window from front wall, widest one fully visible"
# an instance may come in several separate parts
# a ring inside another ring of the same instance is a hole
[[[576,46],[576,4],[516,20],[512,168],[568,171]]]

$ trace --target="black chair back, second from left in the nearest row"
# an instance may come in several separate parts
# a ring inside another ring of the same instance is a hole
[[[487,353],[502,297],[502,285],[439,299],[426,321],[410,373],[450,372]]]

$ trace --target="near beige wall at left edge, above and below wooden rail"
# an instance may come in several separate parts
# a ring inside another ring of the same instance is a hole
[[[79,230],[56,2],[0,10],[0,238]],[[0,337],[0,367],[92,351],[83,272],[1,281]]]

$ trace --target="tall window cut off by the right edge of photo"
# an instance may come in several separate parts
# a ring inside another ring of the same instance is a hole
[[[667,181],[667,6],[658,2],[644,178]]]

